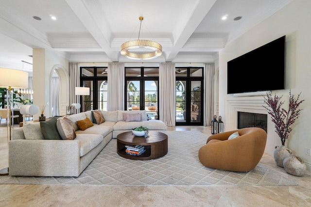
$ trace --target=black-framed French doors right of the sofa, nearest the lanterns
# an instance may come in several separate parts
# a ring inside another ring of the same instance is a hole
[[[176,67],[176,125],[203,125],[203,68]]]

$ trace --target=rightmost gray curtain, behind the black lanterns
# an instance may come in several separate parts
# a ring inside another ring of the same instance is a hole
[[[214,63],[205,64],[204,85],[204,126],[208,127],[214,117]]]

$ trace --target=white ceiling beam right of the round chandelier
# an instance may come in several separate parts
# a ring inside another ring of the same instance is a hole
[[[195,3],[191,1],[185,4],[173,30],[173,49],[166,58],[167,62],[173,61],[215,2],[216,0],[196,0]]]

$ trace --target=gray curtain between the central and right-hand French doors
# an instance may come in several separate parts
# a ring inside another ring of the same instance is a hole
[[[159,116],[168,127],[176,122],[175,64],[160,63],[159,67]]]

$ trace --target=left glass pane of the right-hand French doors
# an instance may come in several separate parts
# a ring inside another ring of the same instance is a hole
[[[176,81],[176,122],[186,122],[186,81]]]

